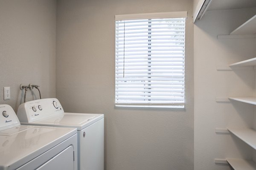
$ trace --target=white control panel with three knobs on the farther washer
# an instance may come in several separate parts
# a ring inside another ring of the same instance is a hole
[[[64,113],[58,99],[38,99],[25,102],[18,108],[17,116],[22,123],[42,120],[50,116]]]

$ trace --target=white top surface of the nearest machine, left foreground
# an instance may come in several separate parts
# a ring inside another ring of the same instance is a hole
[[[74,128],[20,125],[0,131],[0,169],[17,169],[64,140]]]

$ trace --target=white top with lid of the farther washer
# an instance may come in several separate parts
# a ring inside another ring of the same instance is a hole
[[[57,126],[57,127],[74,127],[82,130],[102,119],[104,114],[87,114],[87,113],[62,113],[43,120],[30,123],[22,123],[23,125],[41,125],[41,126]]]

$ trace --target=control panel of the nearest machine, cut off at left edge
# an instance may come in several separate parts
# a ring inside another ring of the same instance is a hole
[[[9,105],[0,105],[0,130],[20,125],[15,111]]]

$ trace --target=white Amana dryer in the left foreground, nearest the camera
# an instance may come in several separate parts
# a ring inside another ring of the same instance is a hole
[[[0,170],[77,170],[75,128],[20,125],[0,105]]]

